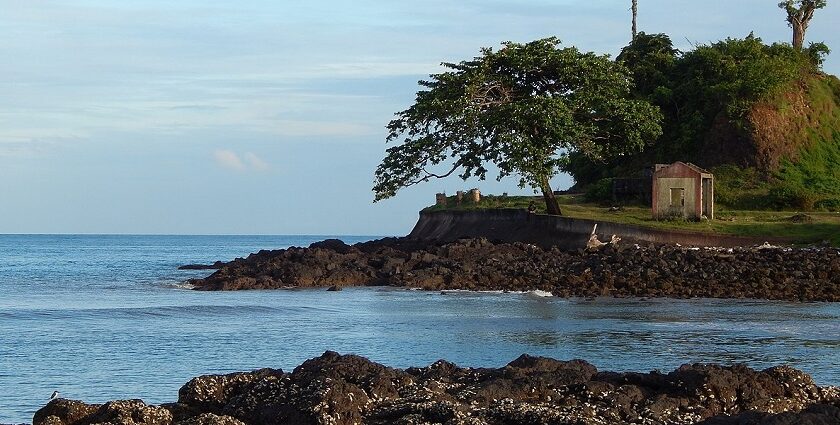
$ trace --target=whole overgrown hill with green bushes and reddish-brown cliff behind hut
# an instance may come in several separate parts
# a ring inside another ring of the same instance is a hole
[[[730,208],[837,210],[840,80],[821,72],[828,51],[749,35],[681,53],[667,35],[640,33],[617,60],[633,73],[634,94],[663,112],[662,136],[611,161],[573,155],[569,171],[579,187],[597,188],[687,161],[712,169],[717,201]]]

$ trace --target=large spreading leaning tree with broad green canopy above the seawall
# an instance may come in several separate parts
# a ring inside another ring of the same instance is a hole
[[[458,170],[464,180],[483,180],[493,164],[498,180],[518,175],[520,187],[541,191],[548,213],[559,215],[549,181],[570,152],[599,160],[659,136],[659,110],[630,99],[623,65],[559,45],[553,37],[506,42],[420,81],[414,105],[387,126],[387,141],[402,143],[376,169],[375,200]],[[443,171],[431,169],[443,163]]]

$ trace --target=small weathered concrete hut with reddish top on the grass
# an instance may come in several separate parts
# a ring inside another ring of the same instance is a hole
[[[656,219],[715,217],[714,176],[685,162],[656,164],[653,173],[653,216]]]

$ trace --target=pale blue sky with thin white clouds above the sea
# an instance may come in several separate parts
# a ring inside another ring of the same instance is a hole
[[[776,0],[640,0],[690,50],[789,41]],[[457,177],[373,203],[417,81],[502,41],[615,56],[619,0],[0,0],[0,233],[404,235]],[[840,5],[807,41],[840,49]],[[840,74],[840,53],[825,71]],[[568,176],[553,181],[571,185]]]

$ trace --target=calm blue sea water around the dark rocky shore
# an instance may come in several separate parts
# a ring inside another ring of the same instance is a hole
[[[169,402],[193,376],[291,369],[324,350],[397,367],[501,366],[522,353],[616,371],[790,364],[840,385],[837,303],[180,285],[208,274],[182,264],[323,238],[0,235],[0,423],[30,422],[54,390]]]

